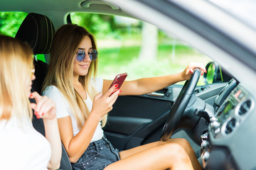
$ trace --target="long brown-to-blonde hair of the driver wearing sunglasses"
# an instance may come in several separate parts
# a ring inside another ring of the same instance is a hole
[[[82,97],[75,91],[73,86],[73,65],[75,52],[83,38],[88,36],[92,41],[92,48],[97,50],[95,38],[85,28],[75,24],[65,24],[55,33],[50,49],[50,63],[48,74],[43,84],[43,90],[47,86],[56,86],[67,99],[70,110],[73,113],[78,127],[82,128],[83,123],[89,115],[89,110]],[[91,84],[92,77],[97,74],[97,60],[92,61],[86,76],[79,76],[80,83],[92,99],[98,92]],[[104,126],[107,117],[102,118]]]

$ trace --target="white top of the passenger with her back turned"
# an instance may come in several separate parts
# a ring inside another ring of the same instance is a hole
[[[0,120],[0,169],[46,170],[50,143],[33,128],[29,118],[19,125],[16,118]]]

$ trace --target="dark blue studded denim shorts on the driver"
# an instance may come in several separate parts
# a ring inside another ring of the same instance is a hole
[[[91,142],[78,162],[72,164],[72,167],[74,170],[101,170],[119,159],[119,150],[114,149],[106,137],[102,137],[101,140]]]

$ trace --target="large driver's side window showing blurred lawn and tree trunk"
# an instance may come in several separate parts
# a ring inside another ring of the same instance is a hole
[[[98,77],[127,79],[163,76],[183,71],[189,62],[210,61],[206,55],[156,26],[132,18],[96,13],[70,13],[72,23],[95,35],[99,51]],[[181,82],[183,84],[183,82]],[[199,85],[203,85],[203,80]]]

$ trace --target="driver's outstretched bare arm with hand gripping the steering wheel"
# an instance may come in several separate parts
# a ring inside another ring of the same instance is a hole
[[[193,69],[197,67],[202,70],[202,74],[203,72],[206,72],[203,64],[191,63],[188,64],[188,67],[186,67],[183,72],[179,72],[177,74],[124,81],[124,84],[121,86],[122,93],[120,95],[142,95],[164,89],[166,86],[176,84],[178,81],[190,79],[191,75],[193,74]],[[104,80],[103,91],[107,91],[111,83],[111,80]]]

